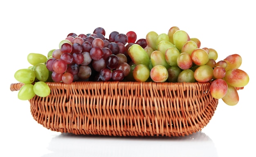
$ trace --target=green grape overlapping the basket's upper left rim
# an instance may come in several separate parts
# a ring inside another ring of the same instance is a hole
[[[34,84],[33,90],[36,95],[46,97],[51,93],[50,87],[43,81],[38,81]]]

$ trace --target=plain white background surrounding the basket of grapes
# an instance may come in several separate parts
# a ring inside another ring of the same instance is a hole
[[[253,1],[203,0],[9,0],[0,2],[1,107],[0,156],[27,157],[252,157],[255,153],[255,5]],[[240,69],[250,77],[239,90],[240,101],[217,110],[201,132],[179,138],[94,137],[45,129],[30,113],[28,101],[11,92],[14,73],[27,68],[31,52],[47,55],[68,33],[92,33],[103,27],[135,31],[138,38],[178,26],[201,47],[214,48],[221,60],[243,58]]]

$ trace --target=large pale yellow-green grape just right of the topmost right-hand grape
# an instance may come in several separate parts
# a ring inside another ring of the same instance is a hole
[[[178,30],[173,34],[173,44],[178,50],[181,50],[184,44],[190,40],[189,35],[182,30]]]

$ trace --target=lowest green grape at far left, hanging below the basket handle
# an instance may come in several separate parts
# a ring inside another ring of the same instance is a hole
[[[20,100],[30,100],[31,98],[33,98],[36,95],[33,87],[34,85],[32,84],[23,85],[18,92],[18,98]]]

